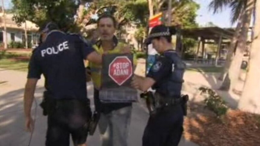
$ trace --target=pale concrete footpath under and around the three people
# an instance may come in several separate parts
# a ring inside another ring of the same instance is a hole
[[[30,133],[24,131],[23,92],[26,82],[25,72],[0,69],[0,146],[27,146]],[[36,119],[35,129],[30,146],[43,146],[47,129],[46,117],[42,115],[39,103],[44,91],[44,79],[37,84],[32,116]],[[87,86],[88,97],[93,105],[93,86]],[[142,101],[133,104],[132,120],[128,138],[129,146],[141,146],[141,139],[148,120],[148,112]],[[88,146],[100,146],[98,130],[94,136],[87,139]],[[72,143],[71,143],[72,146]],[[179,146],[196,146],[196,144],[182,138]]]

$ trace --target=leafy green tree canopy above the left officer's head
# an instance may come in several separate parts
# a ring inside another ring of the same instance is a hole
[[[12,0],[14,20],[21,24],[30,20],[42,27],[53,21],[68,30],[74,24],[78,4],[76,0]]]

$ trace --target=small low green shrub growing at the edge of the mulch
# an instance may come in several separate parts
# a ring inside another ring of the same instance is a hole
[[[200,87],[199,90],[202,94],[206,94],[207,98],[204,100],[206,107],[212,110],[218,117],[227,113],[228,107],[225,101],[217,95],[212,89]]]

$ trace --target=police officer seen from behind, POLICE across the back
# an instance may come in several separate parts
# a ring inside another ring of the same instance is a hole
[[[42,43],[31,56],[24,91],[26,129],[33,130],[31,107],[36,83],[43,74],[47,102],[43,107],[48,114],[46,146],[69,146],[70,134],[74,145],[86,145],[91,110],[83,60],[100,64],[102,57],[79,35],[65,34],[55,23],[48,23],[41,33]]]

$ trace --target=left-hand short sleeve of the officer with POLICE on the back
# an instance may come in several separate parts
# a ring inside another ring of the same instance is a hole
[[[36,78],[40,79],[42,74],[41,66],[39,62],[36,59],[36,54],[33,53],[33,55],[30,58],[29,66],[28,66],[28,75],[27,78]]]

